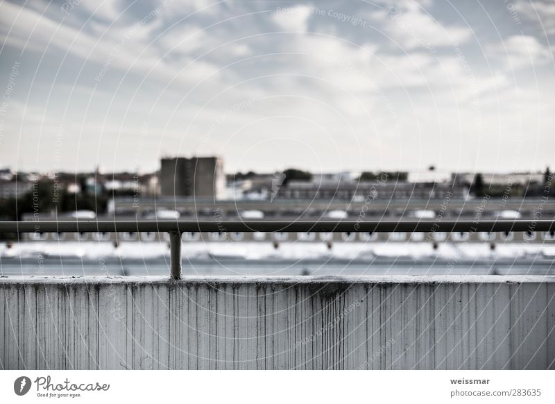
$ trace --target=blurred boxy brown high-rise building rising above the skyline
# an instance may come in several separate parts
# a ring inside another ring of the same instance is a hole
[[[162,195],[219,199],[225,188],[221,158],[162,158]]]

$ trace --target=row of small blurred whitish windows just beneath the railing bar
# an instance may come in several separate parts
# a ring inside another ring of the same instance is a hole
[[[111,239],[110,233],[71,233],[74,239],[79,241],[85,241],[87,239],[92,239],[94,241],[109,241]],[[341,239],[344,241],[352,241],[357,239],[357,234],[359,235],[359,239],[361,241],[372,241],[377,239],[377,233],[341,233]],[[487,233],[481,232],[477,233],[478,238],[481,241],[493,241],[495,240],[496,233]],[[48,239],[49,233],[31,233],[30,237],[33,240],[46,240]],[[89,237],[90,236],[90,237]],[[432,239],[434,241],[445,241],[447,239],[448,233],[443,232],[434,232],[432,233]],[[145,242],[152,242],[156,239],[155,232],[143,232],[138,233],[134,232],[123,232],[119,233],[119,238],[123,241],[135,241],[137,239],[142,239]],[[162,237],[169,241],[169,234],[162,233]],[[208,233],[208,237],[214,241],[221,241],[224,239],[232,239],[234,241],[240,241],[244,239],[244,233]],[[327,241],[333,239],[333,233],[297,233],[297,237],[300,241],[314,241],[317,238],[322,241]],[[391,241],[405,241],[410,239],[414,242],[424,241],[426,235],[425,233],[389,233],[388,239]],[[514,239],[515,233],[513,232],[504,232],[500,233],[500,240],[502,241],[511,241]],[[541,233],[541,237],[544,240],[555,240],[555,232],[544,232]],[[67,238],[66,233],[51,233],[51,238],[54,240],[64,240]],[[537,238],[535,232],[527,232],[524,233],[524,240],[531,241]],[[196,241],[200,240],[200,233],[196,232],[185,232],[182,234],[183,241]],[[262,241],[266,239],[266,233],[253,233],[253,239]],[[273,233],[273,239],[275,241],[287,241],[289,239],[289,233]],[[454,241],[466,241],[470,239],[470,233],[468,232],[456,232],[451,234],[451,239]]]

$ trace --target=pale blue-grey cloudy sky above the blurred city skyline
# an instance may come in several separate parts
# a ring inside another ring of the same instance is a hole
[[[0,3],[0,167],[555,169],[555,2]]]

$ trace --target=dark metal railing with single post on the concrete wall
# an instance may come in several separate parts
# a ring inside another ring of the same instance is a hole
[[[181,234],[185,232],[228,233],[429,233],[429,232],[536,232],[554,231],[554,220],[73,220],[0,221],[0,233],[117,233],[159,232],[170,235],[170,277],[181,278]]]

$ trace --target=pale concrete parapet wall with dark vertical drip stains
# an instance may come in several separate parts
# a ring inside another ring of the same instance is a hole
[[[2,369],[554,369],[555,277],[0,278]]]

